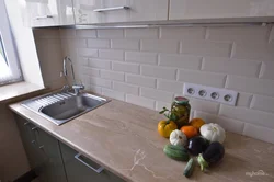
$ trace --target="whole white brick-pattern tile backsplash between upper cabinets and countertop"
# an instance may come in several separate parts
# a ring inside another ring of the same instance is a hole
[[[273,25],[39,29],[34,37],[42,71],[56,66],[47,84],[70,56],[88,90],[151,110],[170,107],[185,82],[236,90],[236,106],[191,99],[192,117],[274,144]]]

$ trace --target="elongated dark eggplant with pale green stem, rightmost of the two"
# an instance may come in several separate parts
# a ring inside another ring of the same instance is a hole
[[[219,162],[225,156],[225,148],[224,146],[218,143],[212,143],[207,149],[199,153],[197,157],[197,161],[201,166],[201,170],[204,171],[205,168],[208,168],[212,164]]]

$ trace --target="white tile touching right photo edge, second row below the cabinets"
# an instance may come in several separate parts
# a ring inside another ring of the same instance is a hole
[[[232,57],[239,59],[254,59],[273,61],[274,43],[236,43]]]

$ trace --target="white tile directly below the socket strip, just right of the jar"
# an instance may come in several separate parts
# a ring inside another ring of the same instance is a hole
[[[192,110],[198,110],[204,111],[213,114],[217,114],[219,111],[219,103],[212,102],[212,101],[205,101],[205,100],[198,100],[198,99],[190,99],[190,104]]]

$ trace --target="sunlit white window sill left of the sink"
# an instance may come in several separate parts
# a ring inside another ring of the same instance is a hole
[[[12,84],[7,84],[7,86],[1,86],[0,87],[0,103],[25,95],[27,93],[36,92],[39,90],[44,90],[44,87],[28,83],[28,82],[18,82],[18,83],[12,83]]]

